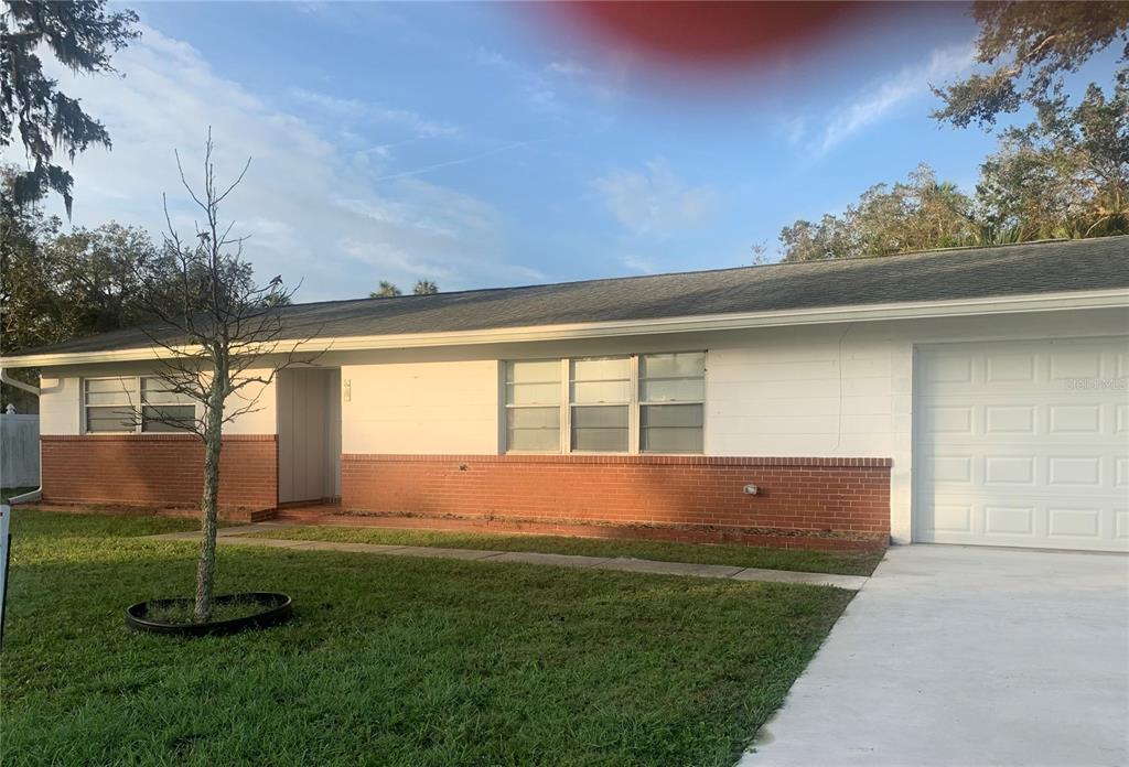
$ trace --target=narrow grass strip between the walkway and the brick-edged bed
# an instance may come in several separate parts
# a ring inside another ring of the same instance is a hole
[[[355,544],[441,546],[445,548],[481,548],[496,552],[541,552],[544,554],[581,554],[606,557],[624,556],[638,559],[658,559],[659,562],[692,562],[703,565],[798,570],[806,573],[840,573],[843,575],[869,575],[882,561],[882,554],[854,552],[808,552],[760,546],[443,532],[392,528],[279,527],[251,535],[259,538],[340,540]]]

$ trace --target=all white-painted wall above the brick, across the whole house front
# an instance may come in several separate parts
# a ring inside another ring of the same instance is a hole
[[[1129,309],[1069,310],[330,352],[318,363],[341,368],[343,453],[496,455],[500,360],[707,350],[707,455],[892,458],[891,531],[896,541],[908,543],[916,345],[1127,330]],[[42,433],[79,433],[79,376],[121,372],[106,365],[45,371]],[[261,412],[227,432],[277,433],[273,388],[260,405]]]

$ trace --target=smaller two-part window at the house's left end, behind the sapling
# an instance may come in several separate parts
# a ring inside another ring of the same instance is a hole
[[[178,432],[196,417],[195,403],[159,378],[87,378],[82,397],[88,434]]]

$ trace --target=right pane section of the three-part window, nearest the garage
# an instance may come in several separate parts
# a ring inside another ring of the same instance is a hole
[[[701,452],[704,402],[704,353],[639,358],[639,449]]]

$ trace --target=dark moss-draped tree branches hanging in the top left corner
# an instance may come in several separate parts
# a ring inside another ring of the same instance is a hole
[[[0,15],[0,146],[18,134],[32,167],[16,175],[12,203],[25,205],[62,195],[70,215],[73,178],[53,162],[62,150],[70,160],[90,144],[110,148],[105,126],[58,89],[43,72],[40,54],[50,51],[72,72],[114,72],[110,58],[138,36],[138,16],[131,10],[105,12],[106,0],[38,2],[6,0]]]

